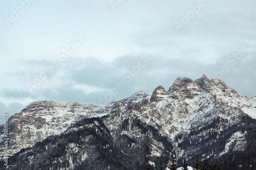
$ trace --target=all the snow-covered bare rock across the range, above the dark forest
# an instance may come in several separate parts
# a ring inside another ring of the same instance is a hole
[[[256,119],[256,97],[247,98],[220,79],[206,75],[196,81],[178,77],[168,91],[162,86],[154,92],[141,90],[105,107],[76,102],[34,102],[9,119],[9,154],[31,147],[48,136],[60,134],[82,118],[108,115],[103,123],[114,137],[119,133],[131,138],[138,137],[140,134],[131,128],[120,131],[120,125],[125,119],[132,125],[132,118],[138,118],[167,137],[174,145],[177,156],[191,155],[196,149],[187,148],[186,152],[181,147],[183,143],[200,144],[212,133],[218,133],[217,137],[221,138],[221,132],[238,124],[238,117],[243,114]],[[193,133],[194,136],[190,135]],[[216,139],[207,140],[211,144]],[[243,151],[246,147],[246,144],[242,144],[244,141],[244,134],[234,132],[219,155],[231,150]],[[149,148],[152,156],[158,156],[161,155],[159,148],[163,146],[155,141]],[[213,154],[209,151],[208,156]]]

